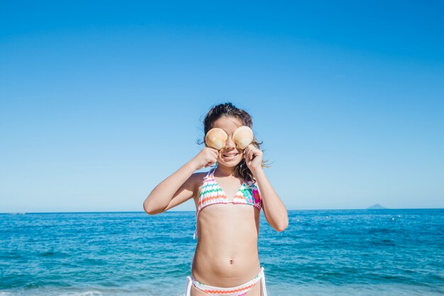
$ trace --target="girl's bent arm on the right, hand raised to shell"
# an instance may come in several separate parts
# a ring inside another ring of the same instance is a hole
[[[284,231],[288,226],[288,213],[282,200],[276,192],[262,169],[262,151],[255,146],[248,146],[244,150],[245,163],[255,176],[257,186],[260,189],[262,208],[265,219],[277,231]]]

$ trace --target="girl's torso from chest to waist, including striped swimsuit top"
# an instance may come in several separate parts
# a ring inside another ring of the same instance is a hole
[[[262,200],[252,182],[214,177],[215,169],[199,173],[192,275],[209,285],[242,285],[260,270],[257,236]]]

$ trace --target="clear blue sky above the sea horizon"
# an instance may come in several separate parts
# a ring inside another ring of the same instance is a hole
[[[0,212],[143,211],[221,102],[288,209],[444,207],[442,1],[148,2],[2,2]]]

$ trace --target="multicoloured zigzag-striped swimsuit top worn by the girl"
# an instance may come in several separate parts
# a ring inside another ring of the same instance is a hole
[[[233,197],[233,200],[228,200],[225,192],[221,186],[218,185],[214,178],[214,171],[217,166],[206,174],[204,177],[204,184],[201,187],[199,194],[199,204],[196,211],[196,231],[194,231],[194,239],[197,237],[197,215],[204,207],[211,204],[250,204],[257,209],[262,207],[262,199],[260,198],[259,188],[250,180],[245,181],[240,185],[238,192]]]

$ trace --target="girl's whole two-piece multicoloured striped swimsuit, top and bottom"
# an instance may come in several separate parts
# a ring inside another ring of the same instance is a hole
[[[217,166],[206,174],[204,177],[204,184],[201,187],[201,192],[199,194],[199,204],[196,211],[196,231],[194,231],[194,239],[197,237],[197,215],[204,209],[204,207],[208,207],[211,204],[250,204],[257,209],[261,209],[262,200],[260,198],[259,189],[255,184],[251,181],[247,183],[243,182],[240,185],[238,192],[236,192],[233,200],[228,200],[225,192],[223,192],[222,188],[216,182],[214,178],[214,171]],[[194,256],[192,259],[192,268],[193,268]],[[265,274],[264,268],[261,267],[259,273],[255,275],[254,278],[249,280],[247,283],[243,285],[239,285],[237,287],[214,287],[210,285],[204,285],[203,283],[199,283],[197,280],[194,280],[193,276],[187,276],[187,294],[186,296],[191,296],[191,288],[194,285],[199,290],[204,291],[206,294],[211,296],[243,296],[247,294],[255,284],[261,280],[262,283],[262,296],[267,296],[267,289],[265,287]]]

